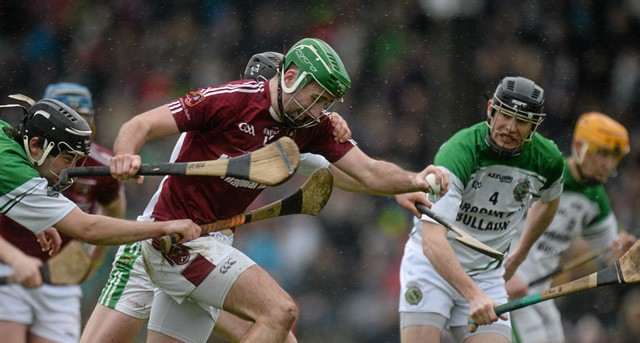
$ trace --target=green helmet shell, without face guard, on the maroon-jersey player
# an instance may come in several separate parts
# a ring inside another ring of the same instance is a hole
[[[283,70],[287,70],[291,63],[295,63],[299,72],[291,87],[282,85],[287,93],[293,93],[315,80],[329,94],[342,101],[351,87],[349,74],[336,51],[318,38],[304,38],[296,43],[284,57]]]

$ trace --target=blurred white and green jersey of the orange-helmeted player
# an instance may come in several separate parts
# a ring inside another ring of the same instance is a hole
[[[520,225],[519,234],[522,229]],[[560,257],[577,236],[582,236],[594,249],[604,248],[618,238],[618,223],[604,186],[579,184],[565,162],[564,190],[558,211],[547,230],[531,247],[529,255],[518,268],[518,275],[527,283],[548,275],[558,266]],[[606,257],[603,256],[601,262]]]

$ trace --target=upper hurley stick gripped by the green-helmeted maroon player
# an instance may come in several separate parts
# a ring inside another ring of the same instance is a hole
[[[137,175],[228,176],[276,186],[288,180],[298,168],[300,151],[289,137],[253,152],[232,157],[198,162],[143,164]],[[75,167],[62,170],[60,187],[75,176],[109,176],[109,167]]]

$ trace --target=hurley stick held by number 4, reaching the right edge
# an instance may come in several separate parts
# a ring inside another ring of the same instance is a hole
[[[497,315],[514,311],[523,307],[537,304],[545,300],[594,289],[601,286],[618,283],[638,283],[640,282],[640,241],[636,241],[633,246],[620,257],[614,264],[602,269],[599,272],[589,274],[580,279],[563,283],[556,287],[551,287],[546,291],[530,294],[519,299],[515,299],[495,307]],[[467,329],[475,332],[478,325],[469,321]]]

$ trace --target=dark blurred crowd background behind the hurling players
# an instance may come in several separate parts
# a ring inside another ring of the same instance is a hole
[[[565,153],[580,113],[611,115],[629,129],[632,150],[608,190],[621,228],[640,233],[639,0],[0,1],[0,99],[82,83],[94,94],[96,140],[111,147],[133,115],[238,79],[254,53],[286,52],[303,37],[342,57],[353,88],[335,110],[360,148],[407,169],[431,163],[451,134],[484,120],[486,96],[507,75],[545,89],[539,131]],[[143,161],[166,161],[173,142],[148,144]],[[127,184],[129,218],[158,181]],[[393,199],[336,190],[319,217],[254,223],[238,229],[236,245],[299,302],[301,342],[397,342],[398,267],[411,221]],[[111,256],[84,285],[85,317]],[[562,299],[568,340],[637,340],[639,292],[607,287]]]

